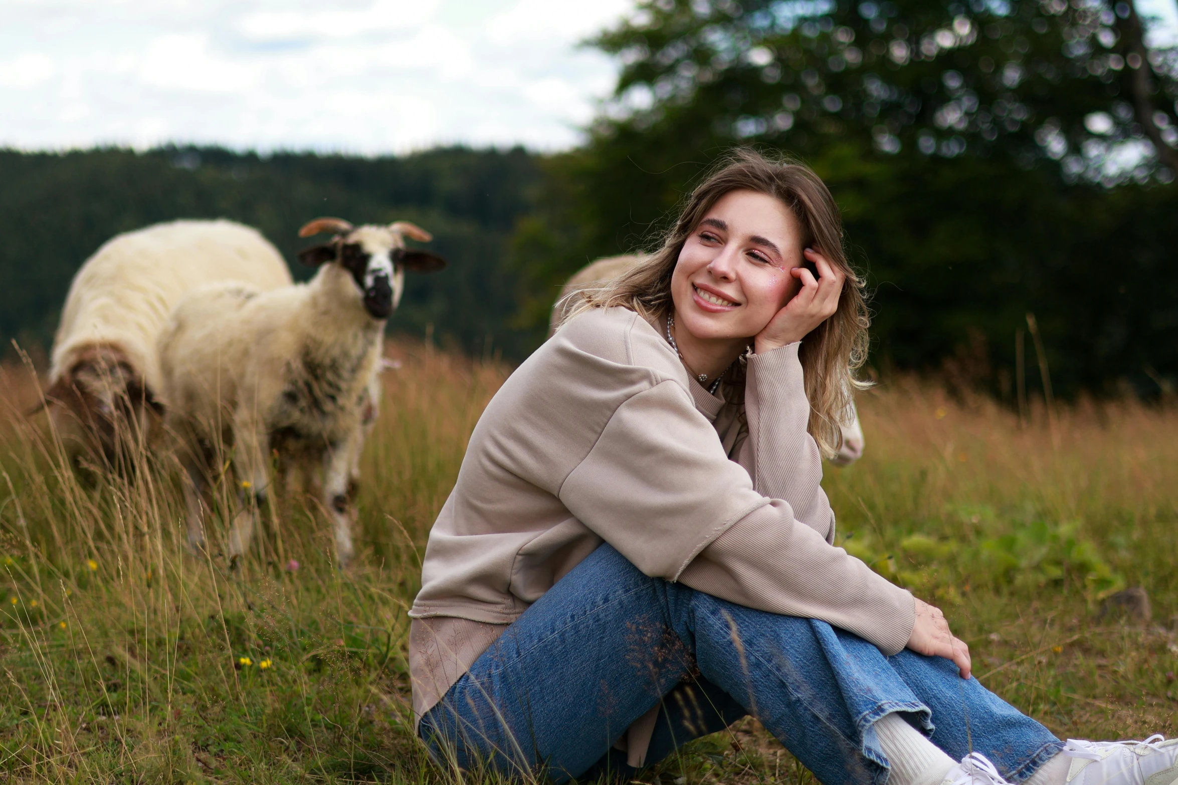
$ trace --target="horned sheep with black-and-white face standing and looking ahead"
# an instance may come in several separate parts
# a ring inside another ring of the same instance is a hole
[[[160,337],[166,425],[179,437],[186,477],[188,544],[204,544],[207,481],[225,465],[218,447],[232,446],[244,501],[230,528],[233,564],[249,547],[276,447],[318,459],[336,556],[342,566],[351,559],[350,491],[379,404],[385,319],[401,301],[406,270],[445,266],[441,257],[405,248],[406,237],[431,239],[408,221],[353,228],[320,218],[299,237],[327,231],[335,233],[329,242],[299,253],[303,264],[319,267],[309,284],[270,292],[201,287],[176,307]]]

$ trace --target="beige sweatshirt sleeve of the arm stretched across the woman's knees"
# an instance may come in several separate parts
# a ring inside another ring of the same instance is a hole
[[[911,637],[912,596],[759,493],[674,380],[622,403],[558,495],[648,576],[822,619],[885,651]]]

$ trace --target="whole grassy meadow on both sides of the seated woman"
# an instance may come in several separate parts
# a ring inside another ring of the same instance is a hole
[[[44,418],[15,414],[35,400],[28,372],[0,371],[0,781],[455,781],[412,734],[405,610],[509,370],[389,354],[346,573],[294,488],[240,573],[187,556],[166,471],[79,481]],[[842,544],[939,604],[984,683],[1057,734],[1172,733],[1178,411],[1081,403],[1052,434],[913,380],[860,403],[866,457],[825,480]],[[1127,586],[1152,621],[1110,610]],[[643,779],[812,778],[744,720]]]

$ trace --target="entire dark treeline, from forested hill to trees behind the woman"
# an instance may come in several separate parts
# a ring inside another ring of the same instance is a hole
[[[519,360],[563,280],[649,247],[734,145],[812,165],[875,313],[871,371],[1013,405],[1027,313],[1055,392],[1178,382],[1178,49],[1106,0],[655,0],[590,45],[621,73],[580,148],[258,157],[0,152],[0,339],[47,346],[70,278],[172,218],[260,228],[410,219],[452,262],[391,330]],[[300,274],[300,271],[296,271]],[[302,273],[305,277],[305,272]]]

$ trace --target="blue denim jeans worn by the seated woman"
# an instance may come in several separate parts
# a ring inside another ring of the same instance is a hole
[[[947,659],[884,657],[825,621],[648,578],[609,545],[511,624],[419,733],[462,769],[626,777],[613,745],[656,705],[647,765],[752,714],[823,785],[887,780],[872,725],[892,712],[951,758],[981,752],[1013,781],[1063,747]]]

